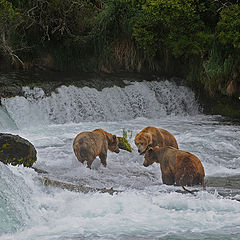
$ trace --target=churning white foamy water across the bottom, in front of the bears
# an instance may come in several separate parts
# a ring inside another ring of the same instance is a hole
[[[217,193],[166,190],[148,187],[110,195],[33,189],[33,222],[1,239],[234,239],[226,229],[234,229],[230,236],[237,237],[239,202]]]

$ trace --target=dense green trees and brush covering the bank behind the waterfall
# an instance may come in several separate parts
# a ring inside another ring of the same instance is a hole
[[[0,0],[0,64],[156,71],[240,95],[239,0]]]

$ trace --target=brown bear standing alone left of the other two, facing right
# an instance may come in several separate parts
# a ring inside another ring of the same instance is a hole
[[[106,167],[107,150],[119,153],[118,138],[103,129],[81,132],[73,141],[73,150],[81,163],[87,161],[88,168],[91,169],[92,162],[97,156],[99,156],[103,166]]]

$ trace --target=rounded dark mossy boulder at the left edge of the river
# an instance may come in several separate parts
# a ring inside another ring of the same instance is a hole
[[[37,160],[35,147],[26,139],[0,133],[0,161],[5,164],[32,167]]]

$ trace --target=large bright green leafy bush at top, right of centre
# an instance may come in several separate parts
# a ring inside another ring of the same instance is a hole
[[[154,57],[168,48],[176,57],[206,51],[210,34],[193,0],[148,0],[134,25],[133,36],[147,55]]]

